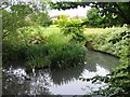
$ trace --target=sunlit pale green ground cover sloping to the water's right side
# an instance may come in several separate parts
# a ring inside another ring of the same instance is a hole
[[[121,51],[130,43],[130,29],[123,28],[86,28],[87,46],[121,56]]]

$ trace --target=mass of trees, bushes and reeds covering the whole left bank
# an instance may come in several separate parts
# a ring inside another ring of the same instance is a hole
[[[58,28],[50,26],[51,19],[47,12],[29,4],[14,4],[10,11],[1,10],[3,65],[24,61],[31,69],[68,68],[83,63],[86,48],[81,41],[77,42],[78,40],[73,40],[73,34],[65,34]]]

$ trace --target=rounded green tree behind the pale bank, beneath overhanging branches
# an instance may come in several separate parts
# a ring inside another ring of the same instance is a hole
[[[92,8],[87,12],[84,19],[87,27],[113,27],[122,26],[122,18],[119,18],[115,13],[104,14],[103,9]]]

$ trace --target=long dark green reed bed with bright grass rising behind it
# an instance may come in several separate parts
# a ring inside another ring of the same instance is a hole
[[[46,44],[35,45],[30,50],[27,66],[29,68],[67,68],[79,65],[86,56],[80,43],[72,42],[72,36],[52,33]]]

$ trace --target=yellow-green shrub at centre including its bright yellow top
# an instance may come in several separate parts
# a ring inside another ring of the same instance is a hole
[[[84,27],[80,26],[82,20],[77,18],[67,19],[66,15],[60,15],[60,18],[54,22],[65,36],[72,34],[72,40],[77,42],[86,40],[83,34]]]

